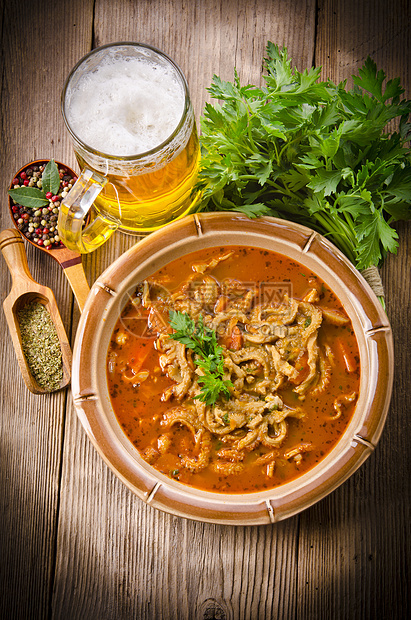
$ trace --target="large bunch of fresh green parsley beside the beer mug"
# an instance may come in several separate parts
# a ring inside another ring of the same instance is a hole
[[[395,253],[410,218],[411,101],[371,58],[346,82],[291,67],[269,42],[266,86],[214,76],[201,119],[200,210],[293,220],[328,237],[360,270]],[[397,119],[396,131],[388,124]],[[399,122],[398,122],[399,119]]]

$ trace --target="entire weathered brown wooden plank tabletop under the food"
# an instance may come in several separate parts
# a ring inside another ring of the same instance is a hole
[[[1,228],[7,187],[36,158],[76,168],[60,113],[72,66],[93,47],[141,41],[183,69],[197,119],[213,73],[260,83],[268,40],[300,69],[348,78],[371,55],[410,97],[407,0],[0,0]],[[76,168],[77,169],[77,168]],[[395,382],[376,451],[327,498],[271,526],[203,524],[158,512],[98,456],[71,393],[33,395],[0,316],[0,618],[362,619],[409,617],[410,227],[382,269]],[[135,239],[83,257],[90,284]],[[63,271],[27,247],[74,341]],[[0,259],[2,299],[11,279]]]

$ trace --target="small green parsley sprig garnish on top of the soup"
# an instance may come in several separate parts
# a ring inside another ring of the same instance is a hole
[[[232,383],[223,379],[224,359],[215,331],[204,324],[202,315],[196,323],[187,313],[174,310],[170,310],[170,325],[175,330],[170,338],[193,350],[194,363],[204,373],[197,379],[202,387],[196,398],[207,405],[220,396],[228,398]]]

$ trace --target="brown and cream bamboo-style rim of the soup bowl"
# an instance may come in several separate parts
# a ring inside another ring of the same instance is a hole
[[[228,242],[228,239],[242,240]],[[252,239],[253,243],[247,243]],[[217,243],[217,241],[219,241]],[[112,327],[136,283],[188,248],[255,245],[291,256],[331,286],[359,341],[361,388],[353,419],[331,451],[295,480],[246,494],[201,491],[171,480],[139,456],[111,407],[105,355]],[[280,249],[275,249],[279,247]],[[299,257],[299,258],[298,258]],[[316,268],[315,268],[316,267]],[[319,273],[320,272],[320,273]],[[325,276],[325,277],[324,277]],[[332,282],[332,284],[330,284]],[[100,358],[100,361],[98,359]],[[260,525],[295,515],[335,490],[373,452],[388,412],[393,383],[388,318],[352,263],[319,233],[273,217],[239,213],[186,216],[152,233],[117,258],[91,288],[73,349],[72,394],[78,417],[109,468],[138,497],[182,517],[210,523]],[[356,414],[358,410],[358,415]],[[343,441],[344,440],[344,441]]]

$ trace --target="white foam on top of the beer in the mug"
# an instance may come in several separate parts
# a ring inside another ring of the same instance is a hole
[[[109,155],[157,147],[184,111],[185,93],[174,69],[149,59],[105,60],[67,91],[65,112],[73,132]]]

